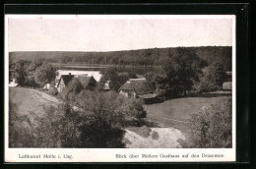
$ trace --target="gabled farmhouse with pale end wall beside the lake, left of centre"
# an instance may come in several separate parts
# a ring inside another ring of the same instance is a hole
[[[83,84],[85,89],[95,89],[96,87],[96,80],[95,78],[89,77],[87,75],[62,75],[60,80],[58,81],[57,90],[61,92],[63,88],[65,88],[74,78],[77,78],[81,84]]]

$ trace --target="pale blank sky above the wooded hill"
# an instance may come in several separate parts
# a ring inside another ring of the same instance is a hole
[[[230,16],[7,16],[8,51],[231,46]]]

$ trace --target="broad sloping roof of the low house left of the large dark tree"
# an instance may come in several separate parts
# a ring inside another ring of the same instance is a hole
[[[154,92],[154,87],[147,81],[128,81],[125,84],[123,84],[119,90],[121,89],[130,91],[134,90],[138,95]]]

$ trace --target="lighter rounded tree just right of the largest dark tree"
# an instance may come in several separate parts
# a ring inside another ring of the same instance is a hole
[[[200,81],[194,85],[198,92],[208,92],[222,87],[226,74],[224,72],[224,64],[215,62],[203,70]]]

